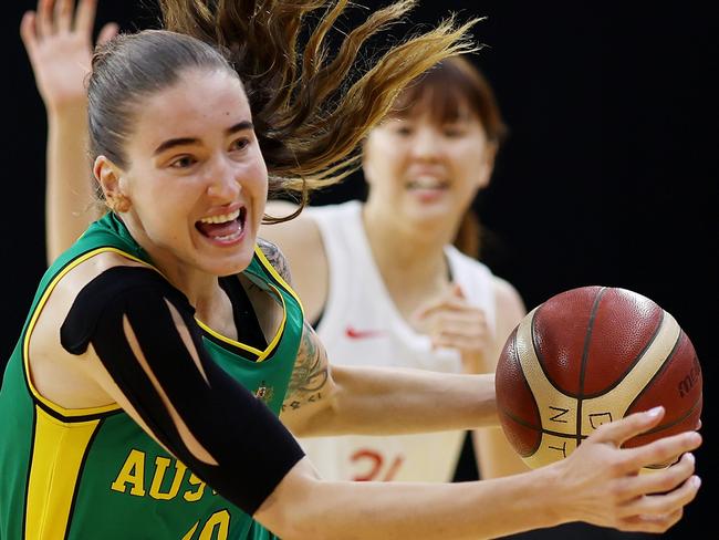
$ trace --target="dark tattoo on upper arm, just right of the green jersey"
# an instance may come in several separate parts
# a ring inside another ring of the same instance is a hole
[[[327,353],[312,326],[305,321],[282,411],[296,411],[322,399],[322,392],[329,378]]]

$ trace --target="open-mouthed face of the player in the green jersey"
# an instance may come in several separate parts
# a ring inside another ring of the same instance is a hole
[[[133,236],[164,267],[217,276],[247,268],[268,173],[240,82],[223,71],[187,71],[144,100],[135,122],[121,173]]]

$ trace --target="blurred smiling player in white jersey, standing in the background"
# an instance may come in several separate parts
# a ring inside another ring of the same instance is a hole
[[[492,172],[504,125],[484,77],[462,58],[413,82],[364,144],[366,204],[308,208],[260,235],[293,269],[293,285],[329,356],[450,373],[494,372],[524,315],[507,281],[451,246]],[[270,215],[292,211],[272,202]],[[476,256],[476,253],[472,253]],[[475,438],[482,478],[525,470],[501,429]],[[448,481],[462,434],[303,440],[323,477]]]

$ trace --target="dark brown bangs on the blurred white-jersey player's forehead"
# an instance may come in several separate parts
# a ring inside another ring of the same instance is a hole
[[[461,56],[445,59],[417,77],[397,96],[387,116],[406,120],[427,113],[437,125],[476,117],[487,138],[497,145],[507,137],[494,92]]]

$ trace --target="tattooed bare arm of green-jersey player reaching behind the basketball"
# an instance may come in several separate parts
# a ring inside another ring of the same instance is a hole
[[[302,437],[499,424],[494,375],[330,365],[324,346],[306,322],[281,417]]]

